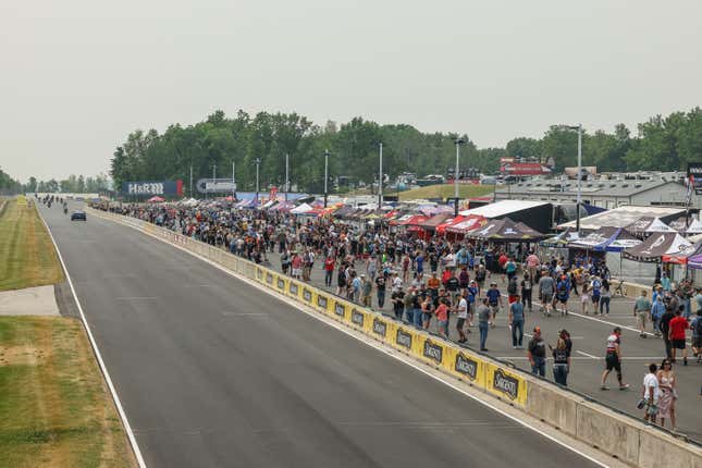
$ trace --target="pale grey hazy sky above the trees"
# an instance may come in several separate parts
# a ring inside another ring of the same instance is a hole
[[[5,0],[0,167],[108,171],[135,128],[355,115],[467,133],[633,126],[702,104],[702,1]]]

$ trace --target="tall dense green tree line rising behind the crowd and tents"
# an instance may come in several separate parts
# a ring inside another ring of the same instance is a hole
[[[185,182],[190,167],[194,178],[232,176],[236,164],[239,190],[254,189],[256,161],[260,161],[260,186],[284,184],[285,155],[290,155],[291,182],[300,190],[320,193],[324,151],[330,152],[330,176],[377,181],[379,144],[383,144],[383,169],[394,177],[402,172],[446,174],[455,165],[455,140],[463,138],[461,170],[498,171],[500,158],[553,158],[556,171],[577,163],[577,132],[551,126],[542,138],[518,137],[504,148],[478,148],[468,135],[422,133],[411,125],[380,125],[355,118],[337,125],[316,125],[297,113],[244,111],[226,116],[215,111],[194,125],[174,124],[131,133],[111,160],[110,174],[119,189],[124,181],[176,180]],[[584,165],[600,172],[679,170],[702,158],[702,110],[656,115],[638,125],[633,136],[624,124],[614,132],[583,132]]]

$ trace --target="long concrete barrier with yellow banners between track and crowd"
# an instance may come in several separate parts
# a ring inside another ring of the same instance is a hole
[[[364,334],[412,356],[446,374],[490,393],[629,465],[643,468],[699,468],[702,448],[618,414],[551,382],[509,368],[456,343],[366,309],[308,283],[145,221],[89,209],[207,258],[267,288],[304,304]]]

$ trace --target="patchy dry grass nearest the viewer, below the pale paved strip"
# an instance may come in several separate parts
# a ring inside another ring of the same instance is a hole
[[[0,317],[0,467],[134,467],[79,321]]]

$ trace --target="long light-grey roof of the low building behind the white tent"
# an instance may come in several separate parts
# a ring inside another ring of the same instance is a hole
[[[580,183],[582,196],[596,194],[598,197],[630,197],[652,188],[675,184],[680,189],[685,187],[674,181],[666,180],[638,180],[638,181],[582,181]],[[541,195],[575,197],[577,196],[578,181],[543,180],[535,178],[512,184],[509,187],[497,189],[497,195]]]

